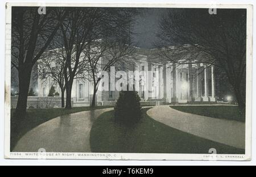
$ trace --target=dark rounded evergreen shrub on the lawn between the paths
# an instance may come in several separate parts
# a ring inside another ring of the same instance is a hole
[[[121,91],[114,108],[115,122],[123,125],[134,125],[141,120],[141,98],[138,92]]]

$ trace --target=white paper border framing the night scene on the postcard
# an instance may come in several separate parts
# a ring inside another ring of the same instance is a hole
[[[246,148],[245,154],[127,154],[127,153],[11,153],[10,152],[10,88],[11,88],[11,7],[63,6],[63,7],[157,7],[157,8],[216,8],[247,9],[246,58]],[[117,4],[117,3],[6,3],[5,53],[5,158],[6,159],[113,159],[113,160],[195,160],[195,161],[250,161],[251,116],[253,78],[253,5],[245,4]]]

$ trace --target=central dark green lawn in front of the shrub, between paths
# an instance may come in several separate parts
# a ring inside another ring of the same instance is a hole
[[[143,109],[143,119],[133,128],[114,123],[113,111],[103,113],[94,122],[90,145],[94,153],[195,153],[208,154],[215,148],[218,154],[244,154],[245,150],[205,140],[168,127],[149,117]]]

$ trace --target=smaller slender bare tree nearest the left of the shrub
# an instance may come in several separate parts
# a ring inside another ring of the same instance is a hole
[[[127,44],[127,40],[109,42],[95,41],[86,45],[84,53],[88,60],[88,73],[93,80],[93,98],[91,107],[96,106],[96,94],[104,71],[109,71],[111,66],[120,68],[123,63],[131,63],[135,49]]]

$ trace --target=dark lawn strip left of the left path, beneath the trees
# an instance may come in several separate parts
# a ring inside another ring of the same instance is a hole
[[[14,117],[15,109],[11,109],[11,151],[15,147],[19,139],[31,129],[37,127],[40,124],[45,123],[55,117],[67,115],[69,113],[76,113],[82,111],[89,111],[92,109],[102,109],[109,107],[77,107],[73,109],[52,108],[52,109],[27,109],[27,115],[25,119],[19,119]]]

